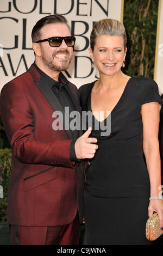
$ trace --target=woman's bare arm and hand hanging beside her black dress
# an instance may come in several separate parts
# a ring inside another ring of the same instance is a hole
[[[151,197],[161,197],[161,164],[159,151],[159,103],[150,102],[141,108],[143,123],[143,151],[146,157],[147,169],[151,185]],[[160,217],[160,225],[163,227],[163,200],[151,200],[148,207],[148,215],[152,216],[156,211]]]

